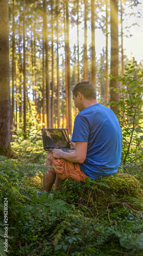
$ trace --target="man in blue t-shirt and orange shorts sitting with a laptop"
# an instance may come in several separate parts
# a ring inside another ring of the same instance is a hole
[[[118,171],[121,163],[122,132],[115,113],[96,100],[96,90],[89,81],[76,84],[73,100],[79,114],[75,118],[71,144],[75,152],[66,153],[54,149],[48,153],[44,175],[43,191],[50,191],[55,182],[71,178],[84,181],[85,177],[98,179]]]

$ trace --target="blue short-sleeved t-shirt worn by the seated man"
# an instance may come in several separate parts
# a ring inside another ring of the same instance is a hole
[[[97,103],[75,117],[72,141],[88,142],[87,157],[79,166],[92,179],[115,174],[121,163],[122,131],[115,113]]]

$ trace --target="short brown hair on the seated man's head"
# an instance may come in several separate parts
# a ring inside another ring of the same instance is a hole
[[[73,88],[72,93],[77,97],[77,93],[81,93],[85,99],[96,99],[96,90],[92,82],[81,81]]]

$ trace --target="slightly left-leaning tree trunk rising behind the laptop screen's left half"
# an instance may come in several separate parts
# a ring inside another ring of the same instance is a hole
[[[45,53],[46,53],[46,113],[47,127],[51,127],[50,118],[50,83],[49,83],[49,67],[48,67],[48,40],[47,40],[47,5],[46,0],[43,0],[43,29],[45,34]]]

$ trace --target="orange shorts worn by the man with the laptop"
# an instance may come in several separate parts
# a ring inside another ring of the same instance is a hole
[[[87,175],[85,175],[80,169],[78,163],[72,163],[64,159],[56,159],[51,154],[51,166],[58,168],[52,169],[54,174],[57,174],[60,179],[73,179],[76,181],[84,181]]]

